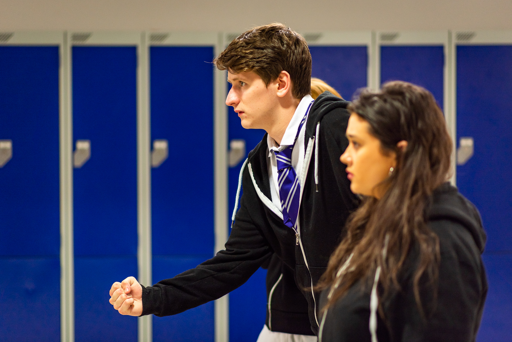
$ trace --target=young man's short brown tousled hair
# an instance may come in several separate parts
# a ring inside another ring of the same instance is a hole
[[[242,33],[214,59],[217,69],[233,74],[252,71],[262,78],[265,86],[287,71],[292,95],[297,99],[311,92],[311,63],[306,39],[280,23]]]

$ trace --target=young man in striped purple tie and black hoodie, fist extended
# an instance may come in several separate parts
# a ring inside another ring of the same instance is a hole
[[[311,286],[358,204],[339,161],[348,145],[348,102],[324,93],[313,103],[307,43],[281,24],[243,33],[215,64],[228,71],[226,104],[242,126],[267,132],[242,166],[243,196],[226,249],[152,287],[134,277],[116,282],[110,303],[133,316],[177,314],[236,289],[276,255],[267,273],[269,312],[260,341],[313,335],[318,294]]]

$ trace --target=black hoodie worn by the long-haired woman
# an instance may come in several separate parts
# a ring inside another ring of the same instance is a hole
[[[487,294],[481,259],[485,232],[475,206],[449,183],[434,191],[428,210],[428,225],[439,237],[441,261],[437,299],[433,288],[420,281],[423,319],[414,298],[412,279],[418,263],[418,245],[408,254],[399,274],[401,291],[380,298],[383,318],[377,314],[376,336],[387,341],[475,341]],[[322,292],[321,310],[329,289]],[[371,341],[369,330],[371,288],[362,291],[355,283],[327,310],[319,342]],[[323,315],[318,311],[318,315]],[[323,318],[323,316],[322,316]]]

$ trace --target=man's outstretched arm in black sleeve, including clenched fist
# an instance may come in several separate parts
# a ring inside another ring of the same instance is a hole
[[[262,230],[249,216],[246,202],[244,194],[225,250],[154,286],[141,286],[134,277],[114,283],[109,301],[114,309],[132,316],[174,315],[216,300],[244,284],[273,253]],[[263,205],[251,203],[253,209]]]

